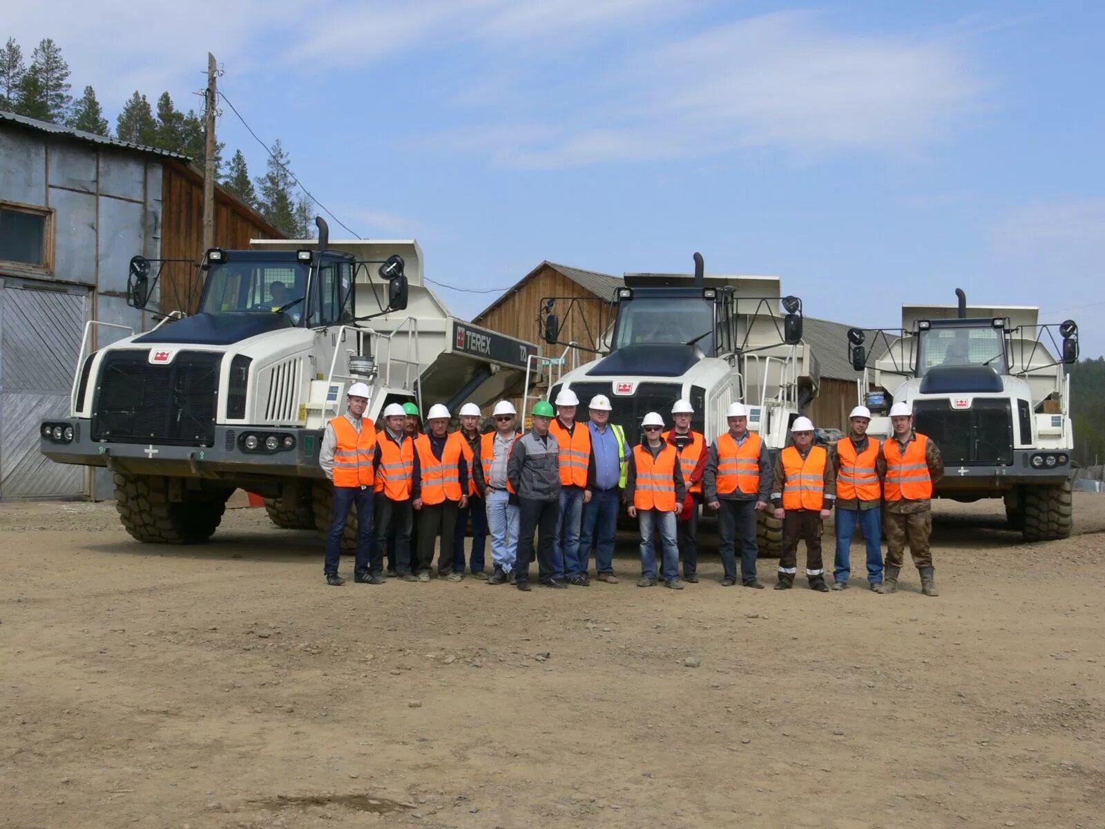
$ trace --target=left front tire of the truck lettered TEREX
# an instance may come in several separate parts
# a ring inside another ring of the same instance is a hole
[[[231,490],[169,500],[169,479],[115,474],[115,508],[124,528],[146,544],[203,544],[222,521]]]

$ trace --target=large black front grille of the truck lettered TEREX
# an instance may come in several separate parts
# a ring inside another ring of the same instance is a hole
[[[155,366],[149,351],[108,354],[93,402],[93,440],[210,447],[219,405],[221,354],[178,351]]]

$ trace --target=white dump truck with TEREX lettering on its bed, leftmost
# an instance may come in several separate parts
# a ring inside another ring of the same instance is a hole
[[[92,350],[88,323],[70,417],[41,426],[59,463],[106,466],[123,525],[141,542],[206,542],[228,496],[265,497],[278,526],[325,531],[333,490],[318,466],[346,388],[391,402],[487,403],[524,393],[539,348],[450,316],[413,240],[257,241],[206,253],[198,312]],[[156,307],[164,263],[135,256],[128,302]],[[347,542],[356,535],[350,517]]]

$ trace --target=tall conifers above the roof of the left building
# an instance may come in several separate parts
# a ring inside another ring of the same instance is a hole
[[[119,111],[113,136],[96,91],[85,86],[84,93],[74,98],[69,77],[69,64],[52,38],[39,42],[30,65],[15,39],[8,38],[0,49],[0,111],[180,153],[199,165],[207,160],[202,113],[178,109],[168,92],[161,93],[155,106],[136,90]],[[224,164],[223,148],[222,143],[215,146],[215,176],[227,190],[290,239],[314,237],[314,202],[293,181],[291,158],[278,139],[266,159],[265,175],[256,178],[251,178],[242,150],[235,149]]]

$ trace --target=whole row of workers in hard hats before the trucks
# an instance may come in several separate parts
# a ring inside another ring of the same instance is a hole
[[[460,581],[467,568],[487,584],[509,583],[529,590],[529,565],[536,553],[539,584],[586,587],[593,548],[596,578],[618,584],[614,536],[624,505],[640,529],[638,586],[662,581],[681,590],[685,583],[698,581],[698,517],[705,503],[718,516],[725,587],[737,584],[739,544],[740,584],[762,589],[756,569],[757,513],[767,511],[782,527],[775,589],[793,586],[798,542],[803,541],[809,586],[828,591],[821,534],[834,507],[831,589],[849,586],[850,547],[859,528],[866,544],[872,590],[897,589],[908,544],[922,591],[937,595],[929,548],[930,499],[944,464],[935,442],[914,431],[907,405],[891,409],[893,434],[885,441],[867,437],[871,412],[856,407],[849,418],[849,434],[829,448],[815,445],[813,423],[798,417],[791,424],[792,445],[777,452],[772,463],[764,440],[749,431],[748,410],[741,403],[728,407],[728,431],[712,443],[691,428],[691,402],[678,400],[672,407],[671,429],[660,413],[649,412],[641,421],[640,442],[629,445],[624,429],[610,423],[611,405],[604,395],[590,400],[590,419],[581,422],[576,418],[579,399],[562,389],[555,409],[546,401],[533,407],[533,428],[524,434],[517,411],[506,400],[495,405],[495,428],[484,434],[474,403],[461,408],[461,428],[454,432],[449,431],[451,414],[441,403],[430,407],[424,432],[414,403],[390,403],[378,432],[364,417],[368,396],[365,384],[354,384],[347,413],[330,420],[323,438],[319,463],[334,483],[324,568],[329,585],[345,584],[338,562],[354,506],[354,580],[360,584],[379,585],[389,575],[429,581],[439,538],[436,573],[450,581]],[[470,516],[473,544],[466,562]],[[488,534],[490,575],[484,563]]]

